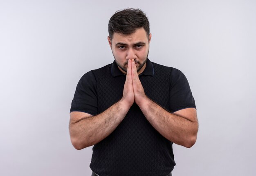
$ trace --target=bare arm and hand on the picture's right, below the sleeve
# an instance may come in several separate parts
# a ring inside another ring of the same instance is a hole
[[[132,60],[132,85],[135,102],[149,123],[168,140],[185,147],[195,144],[198,120],[195,108],[182,109],[174,114],[166,111],[150,100],[144,93],[136,66]]]

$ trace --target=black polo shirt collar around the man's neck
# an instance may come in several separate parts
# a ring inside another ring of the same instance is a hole
[[[114,62],[112,63],[111,65],[111,74],[113,77],[116,77],[116,76],[121,76],[121,75],[125,75],[123,74],[119,68],[117,67],[117,63]],[[140,75],[146,75],[146,76],[154,76],[154,67],[152,65],[152,63],[150,62],[149,59],[147,59],[147,62],[146,62],[146,68],[144,69],[144,71],[140,74]]]

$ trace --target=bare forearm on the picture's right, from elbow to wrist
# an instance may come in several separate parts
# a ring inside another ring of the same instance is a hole
[[[150,124],[168,140],[191,147],[197,137],[198,121],[196,111],[193,118],[171,114],[149,98],[139,105]]]

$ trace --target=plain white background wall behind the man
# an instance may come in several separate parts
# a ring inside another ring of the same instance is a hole
[[[197,143],[174,145],[173,176],[254,176],[254,0],[0,0],[0,175],[90,175],[70,105],[81,76],[113,61],[108,20],[127,7],[145,11],[150,60],[180,69],[197,105]]]

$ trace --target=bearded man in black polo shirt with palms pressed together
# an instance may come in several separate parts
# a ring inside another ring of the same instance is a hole
[[[148,60],[151,33],[140,9],[116,12],[108,31],[115,61],[79,81],[70,110],[72,144],[94,145],[92,175],[170,176],[172,144],[191,147],[197,137],[189,83],[181,71]]]

